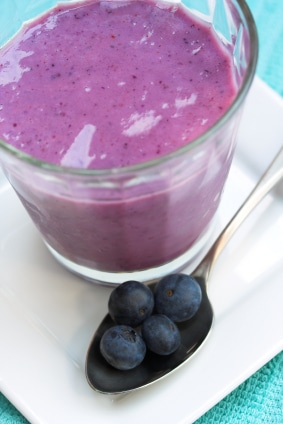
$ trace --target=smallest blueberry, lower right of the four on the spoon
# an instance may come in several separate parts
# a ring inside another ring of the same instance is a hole
[[[158,355],[170,355],[181,344],[176,324],[166,315],[151,315],[142,324],[142,337],[149,350]]]

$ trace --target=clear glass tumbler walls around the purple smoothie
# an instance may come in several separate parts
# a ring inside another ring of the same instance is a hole
[[[0,140],[3,170],[48,249],[95,282],[147,281],[181,270],[200,255],[212,231],[258,39],[243,0],[180,1],[212,25],[233,59],[236,98],[206,133],[159,159],[110,170],[51,165]],[[56,3],[2,0],[0,46]]]

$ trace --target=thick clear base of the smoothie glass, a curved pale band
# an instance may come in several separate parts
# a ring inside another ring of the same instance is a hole
[[[86,266],[79,265],[76,262],[70,261],[54,250],[48,243],[45,242],[45,244],[54,258],[69,271],[79,275],[85,280],[89,280],[97,284],[115,286],[128,280],[136,280],[140,282],[154,281],[170,273],[180,272],[185,267],[191,268],[191,266],[193,266],[192,269],[188,270],[189,272],[192,272],[197,265],[198,258],[212,236],[213,228],[214,226],[210,225],[209,229],[197,241],[197,243],[178,258],[154,268],[131,272],[107,272],[88,268]]]

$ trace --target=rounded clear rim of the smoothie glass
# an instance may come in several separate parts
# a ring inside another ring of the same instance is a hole
[[[12,155],[14,158],[27,163],[28,165],[34,166],[42,171],[49,171],[56,174],[69,174],[73,176],[87,176],[87,177],[105,177],[105,176],[113,176],[113,175],[125,175],[129,173],[134,173],[137,171],[142,171],[150,168],[155,168],[158,165],[165,164],[170,160],[178,158],[187,152],[193,150],[195,147],[200,144],[205,143],[209,137],[217,132],[221,127],[225,125],[225,123],[229,120],[229,118],[238,110],[240,105],[246,98],[246,95],[250,89],[250,86],[253,82],[256,66],[258,61],[258,50],[259,50],[259,41],[258,41],[258,33],[256,24],[253,18],[253,15],[246,3],[245,0],[236,0],[240,9],[245,18],[247,29],[249,31],[250,36],[250,58],[247,66],[246,74],[243,79],[242,85],[234,98],[233,102],[229,106],[229,108],[225,111],[225,113],[203,134],[198,136],[196,139],[170,152],[162,157],[151,159],[149,161],[141,162],[134,165],[129,165],[125,167],[115,167],[115,168],[103,168],[103,169],[88,169],[88,168],[74,168],[74,167],[65,167],[61,165],[52,164],[49,162],[42,161],[40,159],[34,158],[33,156],[22,152],[16,147],[8,144],[0,138],[0,150],[2,149],[5,153]]]

